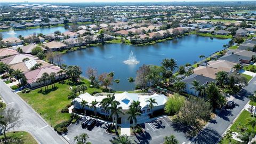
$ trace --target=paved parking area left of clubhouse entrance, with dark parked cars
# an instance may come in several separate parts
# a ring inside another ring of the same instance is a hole
[[[76,135],[79,135],[81,133],[87,133],[89,135],[88,141],[91,143],[110,143],[109,140],[111,140],[114,136],[109,135],[105,133],[108,124],[102,123],[102,122],[97,122],[93,129],[87,130],[83,129],[81,126],[82,119],[77,121],[75,124],[71,124],[68,126],[68,133],[64,137],[70,142],[70,143],[76,143],[74,142],[74,137]]]

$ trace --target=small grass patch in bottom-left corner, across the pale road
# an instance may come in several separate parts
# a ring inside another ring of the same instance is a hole
[[[11,143],[26,143],[26,144],[36,144],[36,140],[30,135],[28,132],[25,131],[17,131],[17,132],[8,132],[6,133],[7,139],[13,140],[21,140],[21,142],[9,142]],[[0,139],[4,139],[4,135],[0,136]],[[2,143],[2,141],[1,141]]]

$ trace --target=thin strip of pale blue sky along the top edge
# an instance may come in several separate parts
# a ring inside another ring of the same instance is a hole
[[[156,0],[1,0],[1,2],[44,2],[44,3],[77,3],[77,2],[156,2]],[[211,0],[159,0],[158,2],[209,2]],[[212,0],[226,1],[226,0]],[[238,1],[238,0],[229,0]],[[255,0],[239,0],[239,1],[255,1]]]

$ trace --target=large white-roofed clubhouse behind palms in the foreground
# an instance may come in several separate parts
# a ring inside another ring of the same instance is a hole
[[[77,98],[74,99],[74,107],[76,109],[83,109],[81,106],[82,100],[85,100],[88,102],[88,106],[85,107],[86,110],[94,111],[93,108],[90,108],[91,102],[92,101],[98,101],[101,102],[104,98],[107,98],[106,93],[102,94],[96,94],[96,95],[91,95],[89,93],[84,93],[80,94]],[[122,107],[122,111],[124,115],[119,115],[118,117],[121,118],[121,122],[123,123],[129,123],[130,121],[127,121],[127,114],[125,113],[127,110],[129,110],[129,106],[133,101],[140,101],[140,107],[141,107],[141,116],[137,116],[137,121],[138,123],[142,121],[147,121],[149,120],[149,115],[151,114],[151,109],[149,108],[149,103],[147,100],[149,98],[155,99],[157,103],[154,103],[154,108],[152,111],[157,111],[157,110],[163,110],[165,103],[167,101],[167,97],[163,94],[156,94],[156,93],[118,93],[115,94],[115,100],[120,102],[119,107]],[[97,105],[97,113],[101,115],[107,115],[109,116],[111,111],[105,111],[104,108],[100,106],[98,103]]]

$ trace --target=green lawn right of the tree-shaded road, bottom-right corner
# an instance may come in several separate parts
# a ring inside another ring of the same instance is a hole
[[[245,125],[246,127],[248,127],[249,131],[252,131],[252,126],[247,125],[247,118],[249,118],[249,117],[251,117],[249,111],[244,110],[239,115],[239,117],[236,119],[236,121],[233,123],[233,125],[230,127],[230,130],[233,132],[238,132],[237,126],[239,125],[239,123],[241,123],[241,124]]]

